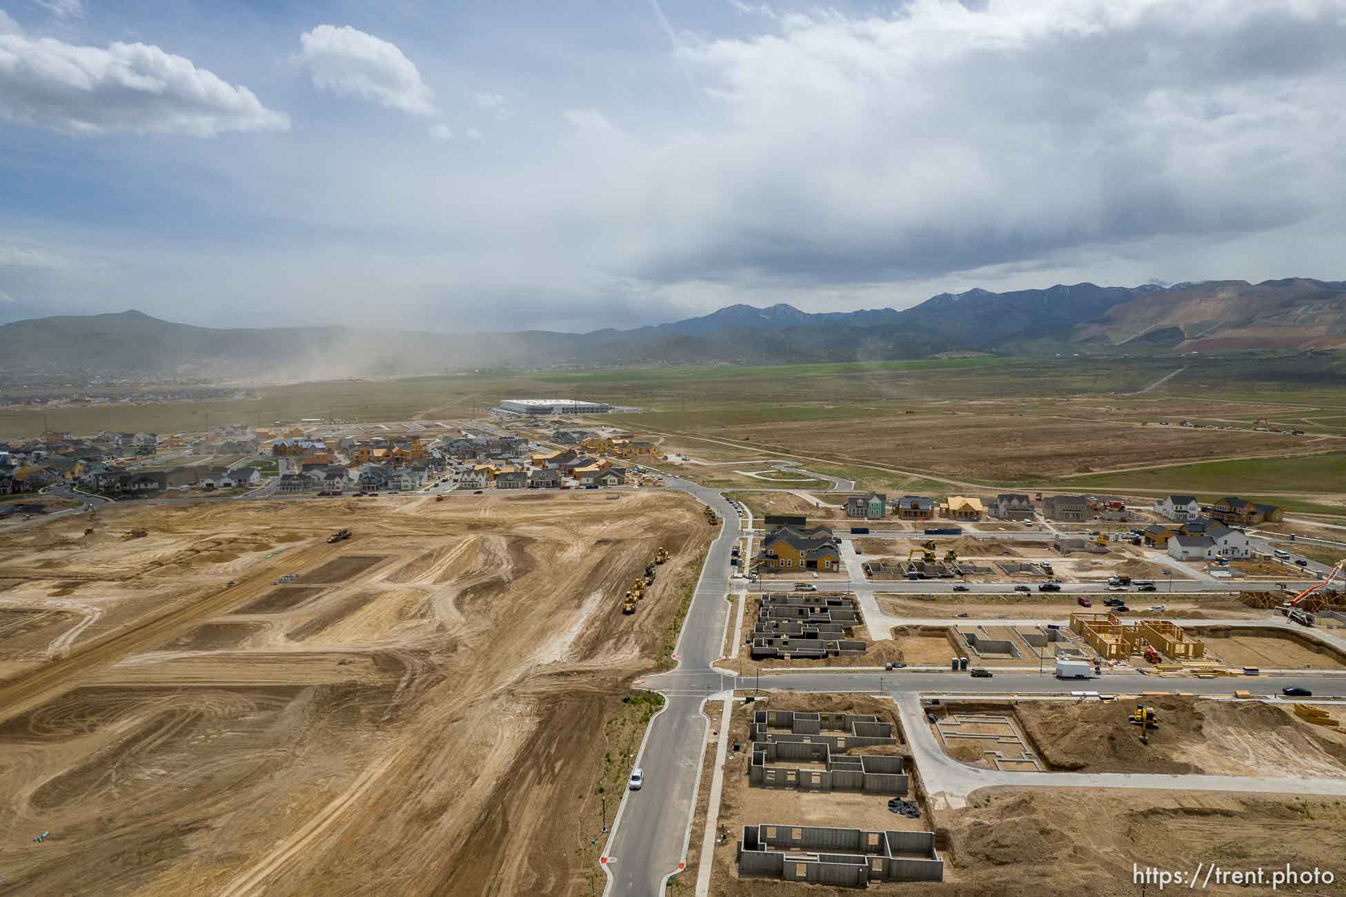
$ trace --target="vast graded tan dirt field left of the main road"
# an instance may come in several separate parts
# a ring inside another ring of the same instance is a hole
[[[592,890],[579,827],[534,834],[598,819],[604,721],[709,533],[676,493],[528,498],[143,505],[0,536],[5,620],[57,616],[0,633],[48,640],[0,683],[5,893],[90,869],[104,894]]]

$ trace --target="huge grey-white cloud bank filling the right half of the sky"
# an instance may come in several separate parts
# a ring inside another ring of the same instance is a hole
[[[1346,193],[1343,42],[1339,0],[914,0],[682,42],[719,120],[626,160],[638,273],[890,280],[1285,226]]]

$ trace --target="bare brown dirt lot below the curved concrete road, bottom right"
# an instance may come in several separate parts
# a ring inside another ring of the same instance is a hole
[[[922,885],[921,893],[938,897],[1135,897],[1140,888],[1132,882],[1132,863],[1190,873],[1198,862],[1272,870],[1288,861],[1296,869],[1338,870],[1346,855],[1346,803],[1333,799],[1119,789],[1100,800],[1093,789],[992,789],[979,792],[966,809],[937,811],[935,823],[949,835],[945,881]],[[779,884],[773,892],[720,893],[797,897],[816,890]],[[1148,893],[1159,893],[1158,885]],[[1203,893],[1272,890],[1211,886]],[[1334,885],[1295,893],[1341,894],[1346,886],[1338,873]]]

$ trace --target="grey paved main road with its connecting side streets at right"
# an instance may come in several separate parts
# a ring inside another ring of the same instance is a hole
[[[720,490],[707,489],[693,482],[666,478],[668,486],[695,496],[699,501],[713,508],[724,524],[711,543],[701,578],[696,586],[690,609],[676,648],[677,667],[669,672],[646,676],[637,682],[641,688],[647,688],[662,694],[666,699],[661,710],[650,721],[645,742],[635,758],[635,765],[645,772],[646,787],[639,792],[627,791],[621,801],[618,813],[612,822],[612,831],[603,851],[603,869],[607,873],[607,889],[604,897],[656,897],[664,893],[666,881],[682,873],[686,862],[686,851],[690,840],[692,816],[696,807],[699,788],[711,788],[715,796],[716,780],[700,781],[700,770],[704,764],[705,750],[709,745],[711,722],[703,715],[703,706],[711,699],[724,700],[732,696],[735,690],[762,688],[774,691],[802,691],[802,692],[861,692],[884,694],[894,698],[898,712],[907,729],[913,752],[921,766],[922,776],[926,776],[927,791],[931,795],[942,795],[950,805],[958,805],[962,799],[977,788],[997,784],[1023,784],[1035,787],[1108,787],[1108,788],[1172,788],[1194,791],[1261,791],[1298,793],[1327,793],[1346,795],[1346,780],[1307,780],[1307,778],[1234,778],[1221,776],[1090,776],[1079,777],[1074,773],[1004,773],[966,766],[949,758],[934,739],[925,730],[922,723],[921,698],[938,698],[954,695],[1069,695],[1082,688],[1105,691],[1106,694],[1139,694],[1168,691],[1195,695],[1230,695],[1236,687],[1248,688],[1259,695],[1277,698],[1280,684],[1296,684],[1312,690],[1316,698],[1346,698],[1346,676],[1331,673],[1296,673],[1294,679],[1260,677],[1260,679],[1183,679],[1174,680],[1156,679],[1154,676],[1136,673],[1108,673],[1104,677],[1088,682],[1065,683],[1046,673],[1034,675],[1031,672],[997,672],[993,679],[972,679],[968,676],[954,676],[949,672],[927,672],[917,669],[878,671],[878,669],[836,669],[835,672],[808,672],[808,671],[769,671],[760,676],[735,676],[721,672],[713,667],[721,653],[727,626],[732,624],[734,603],[725,601],[731,591],[742,591],[742,580],[731,582],[728,578],[731,547],[744,535],[744,521],[738,512],[724,498]],[[747,524],[748,528],[751,523]],[[1024,533],[1030,535],[1030,533]],[[851,551],[853,555],[853,548]],[[857,559],[847,558],[848,568]],[[851,579],[835,585],[839,589],[855,590],[860,583],[853,571]],[[1093,583],[1078,583],[1078,589],[1063,586],[1067,591],[1084,591]],[[1207,583],[1189,583],[1197,589],[1183,591],[1210,591]],[[898,586],[891,589],[888,586]],[[905,589],[915,586],[917,589]],[[934,583],[886,583],[883,591],[933,591]],[[1219,583],[1225,591],[1230,590],[1226,583]],[[868,583],[865,583],[868,587]],[[949,589],[949,587],[946,587]],[[992,587],[1004,591],[1004,586]],[[952,589],[950,589],[952,590]],[[980,589],[977,589],[980,591]],[[871,595],[863,599],[864,610],[876,607]],[[906,620],[903,622],[925,624],[923,620]],[[938,622],[938,621],[937,621]],[[958,621],[944,621],[953,625]],[[979,621],[985,622],[985,621]],[[1031,621],[1015,620],[1014,624]],[[1061,621],[1051,621],[1061,622]],[[1180,621],[1179,621],[1180,622]],[[1288,624],[1275,620],[1252,621],[1201,621],[1205,625],[1230,622],[1236,625],[1276,626],[1285,628]],[[1326,633],[1322,633],[1326,634]],[[871,633],[871,637],[875,637]],[[883,636],[886,637],[886,636]],[[1346,640],[1330,637],[1334,642],[1341,641],[1346,646]],[[716,715],[716,719],[720,719]],[[716,727],[723,723],[717,722]],[[923,738],[922,738],[923,733]],[[716,748],[723,748],[724,739]],[[723,752],[717,753],[716,769],[723,760]],[[929,769],[929,773],[926,772]],[[1016,778],[1019,777],[1019,778]],[[1003,781],[1001,781],[1003,778]],[[704,878],[704,875],[703,875]],[[697,889],[701,893],[701,888]]]

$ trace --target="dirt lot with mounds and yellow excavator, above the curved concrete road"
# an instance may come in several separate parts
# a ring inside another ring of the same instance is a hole
[[[1131,702],[1024,700],[1015,715],[1043,762],[1073,772],[1346,777],[1346,734],[1261,702],[1143,699],[1159,715],[1149,745]],[[1335,717],[1341,722],[1341,712]]]

